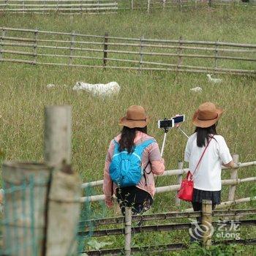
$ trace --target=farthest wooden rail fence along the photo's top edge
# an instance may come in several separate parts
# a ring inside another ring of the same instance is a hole
[[[255,2],[244,3],[241,0],[1,0],[0,12],[12,13],[110,13],[124,10],[165,10],[178,7],[214,7],[230,5],[255,7]]]

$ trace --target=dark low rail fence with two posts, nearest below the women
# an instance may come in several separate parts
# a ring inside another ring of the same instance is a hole
[[[125,209],[125,217],[113,217],[108,219],[91,219],[86,222],[81,222],[81,226],[94,225],[98,229],[94,230],[93,237],[101,236],[120,236],[123,235],[124,247],[115,248],[115,249],[100,249],[100,250],[86,250],[80,253],[86,253],[87,255],[126,255],[129,256],[135,252],[167,252],[177,249],[186,249],[188,244],[158,244],[151,246],[140,246],[132,247],[132,235],[136,233],[149,233],[149,232],[159,232],[159,231],[171,231],[171,230],[189,230],[192,228],[191,222],[182,222],[182,223],[167,223],[168,221],[173,221],[173,219],[189,219],[195,217],[202,218],[202,240],[203,246],[211,246],[212,244],[256,244],[255,238],[246,238],[246,239],[232,239],[232,240],[222,240],[222,241],[212,241],[213,233],[211,229],[223,225],[226,227],[232,227],[232,225],[240,226],[255,226],[256,219],[255,217],[256,209],[242,209],[242,210],[215,210],[211,209],[211,200],[203,200],[203,210],[195,211],[193,213],[183,213],[183,212],[169,212],[161,214],[146,214],[140,216],[132,216],[131,208]],[[230,218],[229,220],[218,220],[213,221],[213,218]],[[238,217],[240,218],[238,220]],[[244,219],[244,217],[250,217],[249,219]],[[234,220],[236,218],[236,220]],[[241,219],[243,218],[243,219]],[[145,225],[147,222],[154,221],[154,224],[158,221],[165,222],[164,224],[157,225]],[[134,225],[139,222],[139,225]],[[121,227],[109,228],[103,227],[99,229],[100,226],[105,225],[122,225]],[[79,236],[88,236],[91,231],[80,231],[78,232]]]

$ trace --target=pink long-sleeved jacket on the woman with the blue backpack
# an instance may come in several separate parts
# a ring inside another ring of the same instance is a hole
[[[121,135],[118,135],[115,140],[118,142],[121,138]],[[135,144],[142,143],[145,140],[152,139],[153,137],[146,135],[143,132],[137,132],[135,137]],[[110,142],[110,146],[108,148],[108,154],[105,161],[105,169],[104,169],[104,183],[103,183],[103,192],[105,195],[105,203],[107,206],[112,206],[112,195],[113,193],[116,194],[116,184],[111,181],[110,174],[109,174],[109,167],[110,162],[113,157],[113,151],[115,148],[115,144],[113,140]],[[150,165],[146,167],[150,162]],[[136,187],[139,189],[143,189],[148,192],[151,197],[154,197],[155,192],[155,185],[154,185],[154,174],[155,175],[162,175],[165,171],[165,162],[162,159],[159,146],[156,142],[151,143],[147,146],[142,155],[142,165],[146,167],[146,181],[144,176],[141,177],[140,182]],[[112,187],[113,186],[113,187]]]

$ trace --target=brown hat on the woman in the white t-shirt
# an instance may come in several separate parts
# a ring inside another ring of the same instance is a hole
[[[222,113],[223,110],[221,108],[216,108],[214,103],[205,102],[201,104],[195,112],[192,124],[201,128],[211,127],[217,123],[222,116]]]

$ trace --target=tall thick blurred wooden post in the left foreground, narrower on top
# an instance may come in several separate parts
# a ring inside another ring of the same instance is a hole
[[[75,255],[80,178],[72,171],[71,108],[45,108],[45,163],[53,167],[46,238],[47,256]]]

